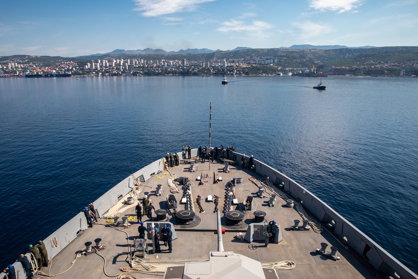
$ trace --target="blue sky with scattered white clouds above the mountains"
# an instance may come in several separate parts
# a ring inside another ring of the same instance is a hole
[[[418,0],[2,1],[0,56],[418,46]]]

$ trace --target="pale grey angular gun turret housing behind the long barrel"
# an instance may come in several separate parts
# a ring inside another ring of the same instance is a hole
[[[211,252],[209,261],[184,264],[182,279],[266,279],[259,261],[234,252]]]

